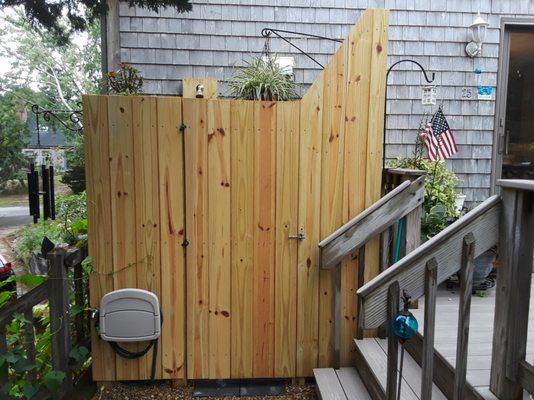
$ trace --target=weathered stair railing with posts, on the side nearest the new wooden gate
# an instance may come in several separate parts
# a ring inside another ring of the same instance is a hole
[[[335,364],[339,365],[339,349],[341,343],[341,261],[354,251],[359,251],[358,256],[358,288],[364,284],[365,270],[365,244],[378,234],[383,237],[391,236],[390,230],[397,222],[406,216],[417,215],[420,218],[420,209],[424,198],[425,176],[421,176],[421,171],[417,172],[415,180],[404,180],[398,187],[382,197],[371,207],[367,208],[361,214],[344,224],[341,228],[323,239],[319,243],[320,264],[323,269],[333,268],[334,276],[334,348]],[[408,175],[402,175],[408,176]],[[411,177],[413,175],[410,174]],[[408,178],[406,178],[408,179]],[[405,238],[417,237],[420,234],[420,225],[415,227],[415,234],[411,232],[412,225],[407,226]],[[387,235],[387,236],[386,236]],[[388,239],[382,240],[383,243],[389,243]],[[383,245],[383,247],[387,246]],[[408,249],[410,244],[406,244]],[[384,250],[383,250],[384,253]],[[384,264],[386,261],[381,261]],[[381,265],[381,268],[384,266]],[[357,332],[357,337],[363,337],[361,329]]]

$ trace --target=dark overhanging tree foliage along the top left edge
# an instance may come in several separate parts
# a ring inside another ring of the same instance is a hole
[[[128,0],[128,3],[154,11],[160,7],[172,7],[178,12],[191,10],[190,0]],[[12,6],[23,6],[26,20],[32,26],[52,32],[61,43],[66,43],[71,33],[86,30],[108,10],[106,0],[0,0],[0,8]]]

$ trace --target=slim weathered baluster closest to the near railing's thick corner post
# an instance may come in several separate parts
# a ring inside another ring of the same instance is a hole
[[[463,400],[467,374],[467,349],[469,342],[469,319],[471,294],[473,292],[473,270],[475,237],[468,233],[464,237],[462,265],[460,269],[460,309],[458,310],[458,336],[456,344],[456,372],[454,374],[454,400]]]

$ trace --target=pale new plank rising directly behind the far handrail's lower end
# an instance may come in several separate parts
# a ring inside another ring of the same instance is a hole
[[[344,149],[344,105],[345,105],[345,56],[346,45],[343,44],[336,52],[330,63],[323,71],[323,118],[322,118],[322,160],[321,160],[321,237],[326,237],[343,223],[343,149]],[[319,272],[319,366],[333,366],[334,355],[340,354],[340,344],[345,351],[344,363],[350,363],[350,348],[352,338],[346,334],[343,338],[335,336],[335,330],[341,332],[341,321],[347,321],[348,313],[343,313],[339,319],[340,326],[335,326],[336,313],[342,310],[336,308],[336,291],[339,284],[336,277],[339,271],[320,270]],[[346,288],[345,288],[346,289]],[[350,290],[350,289],[349,289]],[[341,290],[339,292],[341,294]],[[341,297],[338,299],[341,307]],[[355,298],[352,298],[355,303]],[[347,303],[345,303],[347,304]],[[346,308],[343,311],[348,311]],[[346,317],[346,318],[345,318]],[[347,329],[346,323],[344,332]],[[336,348],[336,342],[337,348]],[[339,358],[337,359],[339,362]]]

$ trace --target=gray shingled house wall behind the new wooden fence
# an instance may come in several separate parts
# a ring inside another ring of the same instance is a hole
[[[145,90],[180,94],[183,77],[220,80],[221,96],[236,66],[261,53],[262,28],[295,30],[344,38],[363,9],[389,8],[389,63],[412,58],[435,71],[438,98],[456,134],[460,152],[449,161],[462,179],[469,202],[488,197],[494,125],[494,101],[462,100],[462,87],[475,89],[475,67],[486,86],[496,86],[500,18],[534,15],[534,0],[193,0],[193,11],[177,14],[120,7],[121,57],[141,69]],[[490,22],[482,57],[465,55],[468,29],[480,10]],[[337,43],[316,39],[294,41],[323,65]],[[295,80],[305,91],[318,73],[317,65],[281,40],[271,49],[296,60]],[[421,74],[398,66],[389,80],[387,104],[388,158],[409,155],[421,115]]]

